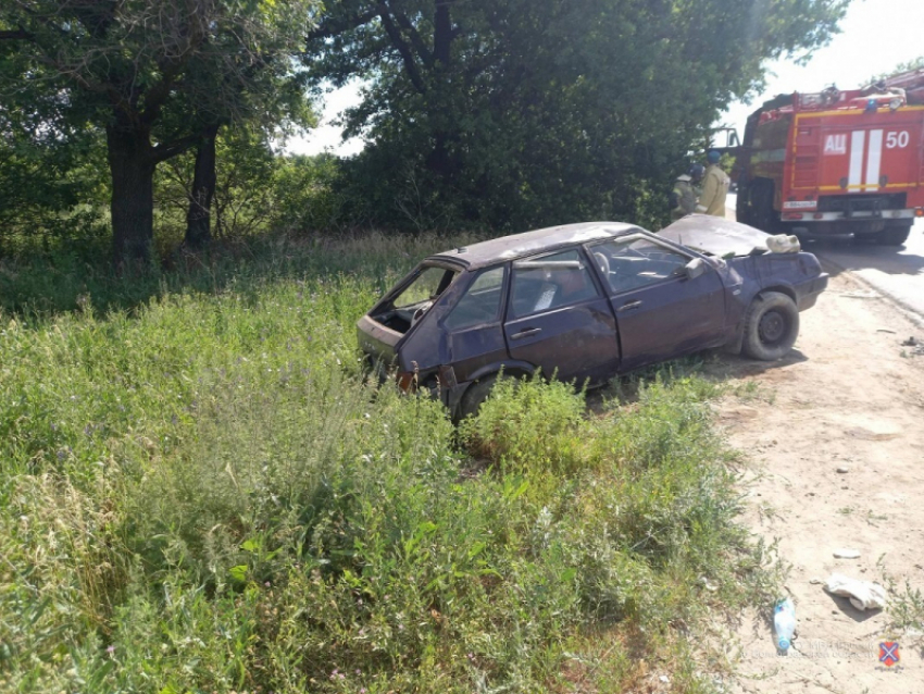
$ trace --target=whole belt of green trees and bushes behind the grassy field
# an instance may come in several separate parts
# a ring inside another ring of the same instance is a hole
[[[0,221],[15,227],[0,227],[0,256],[100,227],[120,267],[274,221],[655,227],[717,115],[762,85],[765,61],[827,42],[848,2],[4,2]],[[266,175],[270,144],[350,80],[363,98],[344,121],[363,152]],[[305,177],[320,185],[290,185]],[[311,213],[266,209],[300,196]]]

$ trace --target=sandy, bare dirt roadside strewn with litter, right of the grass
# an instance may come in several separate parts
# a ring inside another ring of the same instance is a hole
[[[716,372],[760,384],[762,396],[720,406],[720,423],[746,451],[744,521],[791,565],[797,639],[779,657],[771,627],[746,615],[728,657],[738,693],[924,692],[920,635],[888,633],[888,611],[861,612],[832,597],[833,572],[924,591],[924,355],[901,342],[924,330],[849,273],[832,277],[801,314],[795,351],[775,364],[722,360]],[[839,559],[840,548],[859,558]],[[924,608],[924,606],[922,606]],[[885,636],[900,662],[879,664]],[[726,685],[727,686],[727,685]]]

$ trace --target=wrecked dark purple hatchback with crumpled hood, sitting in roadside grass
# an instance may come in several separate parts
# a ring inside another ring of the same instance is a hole
[[[712,347],[778,359],[826,286],[795,237],[699,214],[658,234],[588,222],[430,256],[358,335],[370,362],[394,367],[405,391],[429,389],[458,420],[501,372],[592,387]]]

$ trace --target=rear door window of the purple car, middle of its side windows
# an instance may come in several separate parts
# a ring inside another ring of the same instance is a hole
[[[552,310],[599,296],[580,252],[534,256],[513,263],[512,318]]]

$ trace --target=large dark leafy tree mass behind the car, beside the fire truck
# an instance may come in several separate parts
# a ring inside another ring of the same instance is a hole
[[[524,226],[644,214],[762,65],[804,57],[847,0],[344,0],[317,78],[371,77],[350,134],[398,215]],[[391,176],[386,176],[386,172]]]

